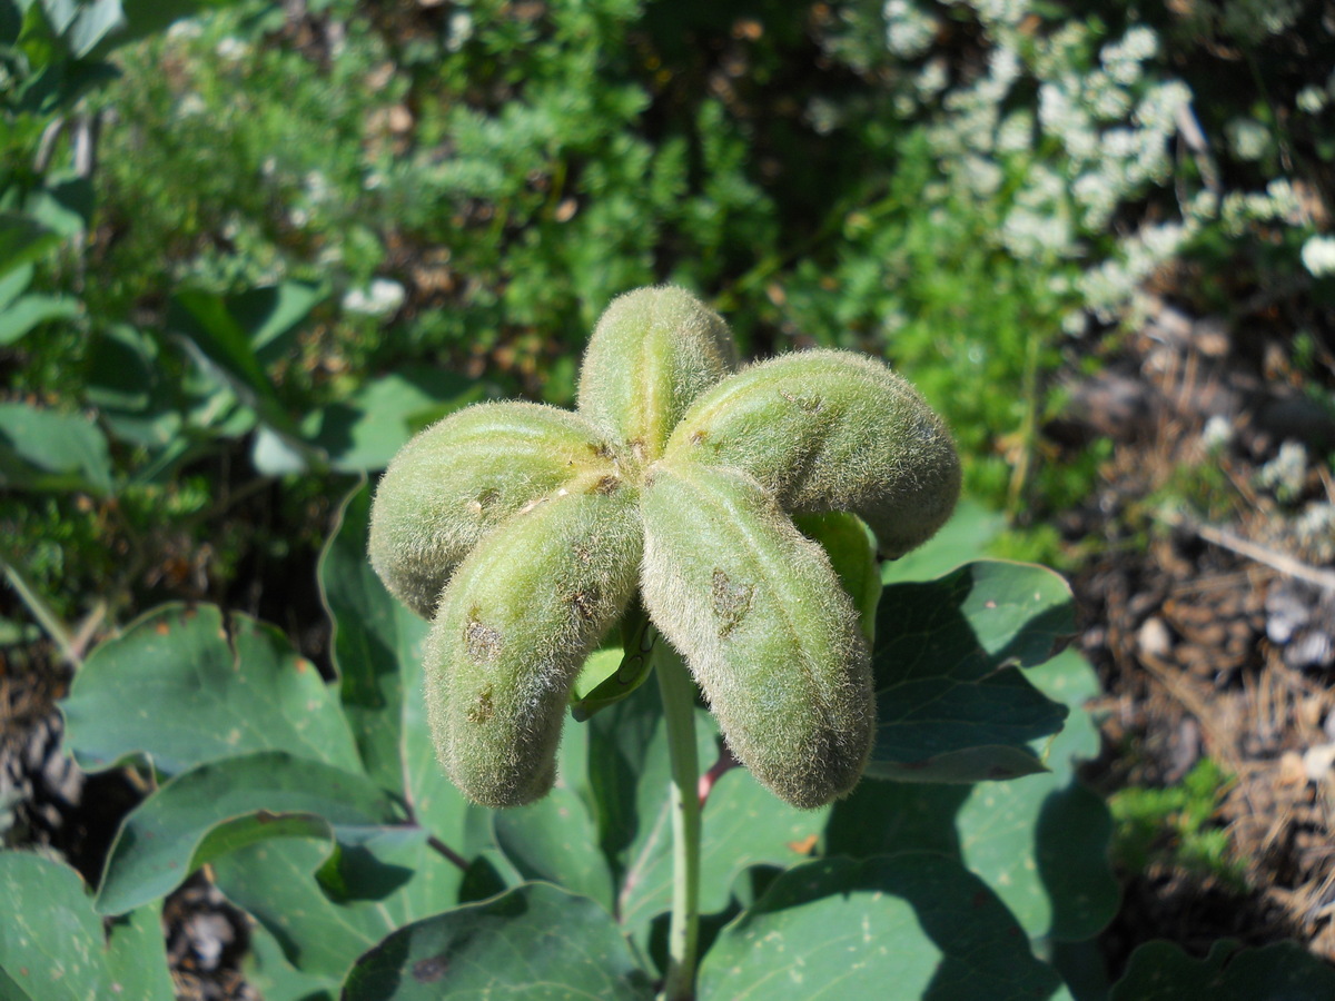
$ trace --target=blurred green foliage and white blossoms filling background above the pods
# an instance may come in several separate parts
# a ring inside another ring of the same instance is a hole
[[[749,355],[886,358],[1001,550],[1060,565],[1107,447],[1043,428],[1147,290],[1278,315],[1330,374],[1331,20],[0,0],[8,573],[61,619],[184,594],[295,626],[331,478],[473,399],[570,403],[598,312],[651,282]]]

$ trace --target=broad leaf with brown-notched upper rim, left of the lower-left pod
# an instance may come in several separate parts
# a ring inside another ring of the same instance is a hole
[[[362,763],[338,699],[272,626],[214,605],[167,605],[101,643],[61,703],[89,770],[147,754],[176,774],[258,750],[347,771]]]

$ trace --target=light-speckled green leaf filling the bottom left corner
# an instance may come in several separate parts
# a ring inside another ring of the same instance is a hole
[[[103,930],[83,880],[25,852],[0,853],[0,997],[171,1001],[160,908],[139,908]],[[108,941],[109,937],[109,941]]]

